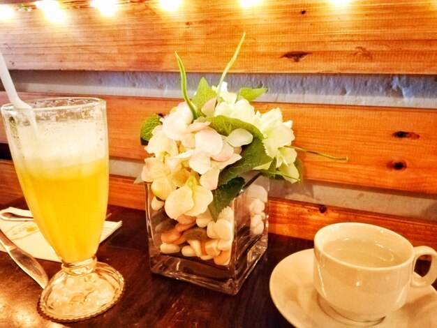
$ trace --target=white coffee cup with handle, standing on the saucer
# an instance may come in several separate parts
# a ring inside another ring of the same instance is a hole
[[[314,255],[313,281],[322,297],[320,306],[334,318],[339,314],[355,322],[380,322],[405,304],[410,286],[431,285],[437,278],[433,248],[413,247],[400,234],[376,225],[328,225],[314,237]],[[431,256],[423,277],[413,274],[422,255]]]

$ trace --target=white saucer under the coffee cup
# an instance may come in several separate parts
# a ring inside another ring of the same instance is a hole
[[[279,262],[270,277],[270,295],[276,308],[299,327],[350,327],[327,315],[318,305],[313,288],[313,248]],[[432,286],[410,288],[406,304],[373,327],[437,327],[437,292]]]

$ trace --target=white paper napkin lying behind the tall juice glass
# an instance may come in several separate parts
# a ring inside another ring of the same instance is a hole
[[[20,216],[32,216],[30,211],[23,209],[14,209],[13,207],[10,207],[7,210]],[[120,227],[121,221],[105,221],[100,242],[108,238],[110,234]],[[24,251],[27,251],[27,253],[32,255],[34,258],[61,262],[47,241],[45,241],[43,234],[41,234],[34,221],[5,221],[0,218],[0,229],[18,247],[22,248]],[[0,251],[5,251],[1,245]]]

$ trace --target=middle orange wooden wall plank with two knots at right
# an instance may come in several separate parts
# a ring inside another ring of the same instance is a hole
[[[41,98],[47,94],[21,94]],[[110,156],[142,160],[140,126],[152,113],[166,114],[181,100],[101,96],[108,103]],[[0,103],[7,100],[0,93]],[[261,112],[281,107],[292,119],[296,146],[349,161],[299,152],[306,179],[437,193],[437,111],[348,105],[254,103]],[[6,142],[0,127],[0,142]]]

